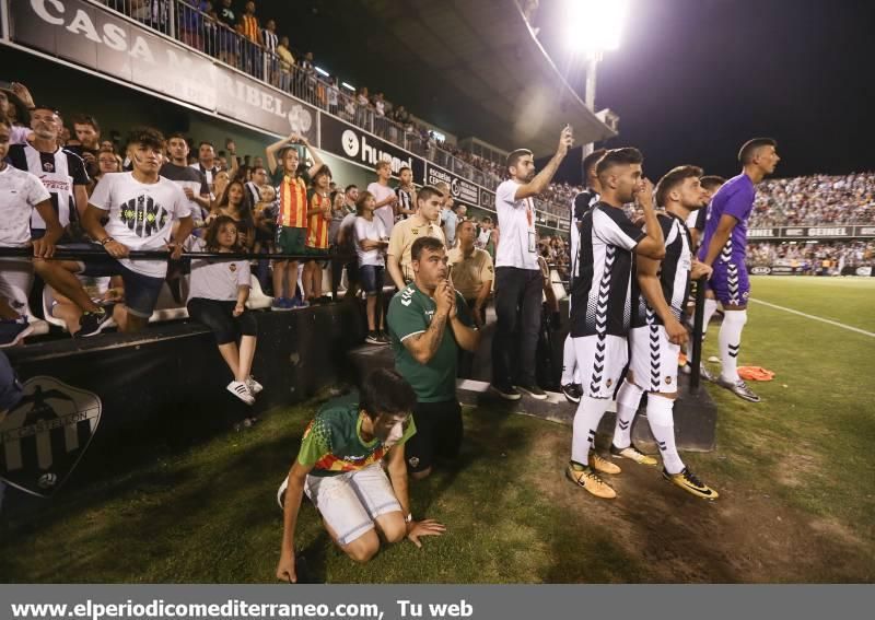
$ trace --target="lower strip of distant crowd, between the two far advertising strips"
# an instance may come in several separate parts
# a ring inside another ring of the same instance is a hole
[[[792,267],[796,273],[843,274],[875,266],[875,241],[818,243],[752,243],[747,246],[751,267]]]

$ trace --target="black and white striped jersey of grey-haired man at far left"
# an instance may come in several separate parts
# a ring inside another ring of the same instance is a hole
[[[9,148],[7,159],[20,171],[39,177],[43,186],[48,189],[51,207],[55,209],[61,226],[67,226],[71,221],[77,220],[78,211],[73,186],[88,185],[91,180],[85,172],[82,157],[67,149],[44,153],[31,144],[13,144]],[[31,215],[31,227],[35,230],[46,227],[46,223],[36,209]]]

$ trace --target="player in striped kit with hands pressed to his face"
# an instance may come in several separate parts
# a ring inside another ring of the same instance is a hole
[[[571,337],[581,367],[584,394],[574,414],[571,461],[565,476],[598,498],[617,493],[596,473],[620,468],[594,451],[598,422],[607,411],[629,360],[632,254],[661,259],[662,229],[653,211],[653,185],[642,177],[637,149],[614,149],[596,165],[602,200],[581,225],[580,276],[572,286]],[[638,199],[648,224],[634,226],[622,206]]]

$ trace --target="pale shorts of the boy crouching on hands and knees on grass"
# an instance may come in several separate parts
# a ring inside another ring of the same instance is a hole
[[[401,512],[389,479],[378,463],[338,476],[307,476],[304,492],[341,546],[374,529],[376,517]]]

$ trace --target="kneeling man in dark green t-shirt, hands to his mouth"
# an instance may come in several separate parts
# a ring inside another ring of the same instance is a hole
[[[462,407],[456,398],[459,348],[476,351],[480,332],[465,300],[447,280],[446,248],[423,236],[410,248],[413,281],[389,303],[387,321],[395,369],[417,395],[417,434],[407,444],[413,479],[431,473],[435,457],[455,458],[462,446]]]

